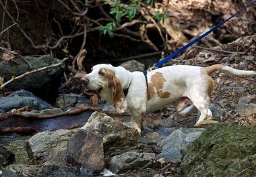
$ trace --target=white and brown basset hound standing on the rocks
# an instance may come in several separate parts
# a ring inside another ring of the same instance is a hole
[[[183,116],[199,109],[201,115],[196,125],[204,119],[211,119],[212,112],[208,105],[214,80],[210,74],[216,70],[239,76],[256,74],[255,71],[236,70],[216,64],[205,68],[166,66],[144,76],[143,72],[129,72],[121,66],[98,64],[82,80],[87,93],[100,95],[108,104],[113,104],[118,113],[129,109],[132,126],[140,133],[143,115],[168,105],[177,105],[177,111]],[[124,89],[128,89],[126,96]],[[193,105],[186,108],[190,101]]]

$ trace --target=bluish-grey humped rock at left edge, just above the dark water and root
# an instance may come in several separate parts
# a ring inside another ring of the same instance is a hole
[[[25,90],[16,91],[15,93],[11,93],[7,97],[0,99],[0,113],[6,113],[7,111],[11,111],[11,109],[20,109],[25,106],[29,106],[37,110],[52,107],[49,103],[46,103],[42,99]]]

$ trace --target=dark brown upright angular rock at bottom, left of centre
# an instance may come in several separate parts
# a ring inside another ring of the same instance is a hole
[[[103,139],[100,135],[79,129],[67,143],[67,162],[81,172],[98,174],[104,170]]]

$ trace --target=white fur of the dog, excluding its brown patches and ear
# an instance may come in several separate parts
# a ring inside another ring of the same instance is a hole
[[[129,87],[129,92],[126,96],[127,108],[131,112],[131,123],[139,133],[141,131],[142,117],[144,114],[156,111],[157,109],[166,107],[170,104],[177,104],[182,97],[189,98],[193,105],[183,111],[180,110],[181,115],[189,115],[196,109],[199,109],[199,111],[201,111],[201,116],[199,117],[197,124],[204,119],[212,118],[212,112],[208,107],[210,98],[207,93],[207,80],[212,78],[207,75],[205,69],[202,67],[185,65],[166,66],[148,72],[147,77],[149,84],[152,82],[151,77],[156,74],[156,72],[160,72],[166,80],[162,91],[170,93],[170,97],[168,98],[163,99],[155,94],[152,99],[148,100],[146,79],[143,72],[129,72],[121,66],[114,67],[110,64],[98,64],[93,67],[90,74],[86,75],[90,80],[88,86],[94,89],[102,86],[103,90],[100,93],[100,96],[111,104],[113,102],[111,102],[111,94],[106,86],[106,82],[104,82],[102,77],[98,74],[100,68],[113,70],[117,78],[121,81],[122,88]],[[256,73],[254,71],[236,70],[228,66],[223,66],[223,68],[218,70],[224,70],[238,75],[252,75]],[[156,91],[156,88],[154,89]]]

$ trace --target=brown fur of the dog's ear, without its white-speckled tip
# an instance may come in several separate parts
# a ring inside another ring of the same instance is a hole
[[[108,88],[113,90],[113,102],[114,107],[122,103],[125,100],[125,94],[123,93],[123,88],[121,86],[121,82],[119,78],[115,76],[115,72],[113,70],[102,68],[104,70],[104,78],[108,80]]]

